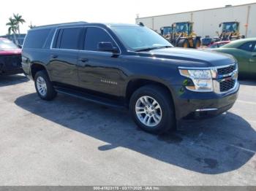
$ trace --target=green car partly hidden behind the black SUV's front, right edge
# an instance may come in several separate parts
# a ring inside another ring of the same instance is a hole
[[[239,39],[214,51],[227,53],[236,58],[239,77],[256,79],[256,38]]]

